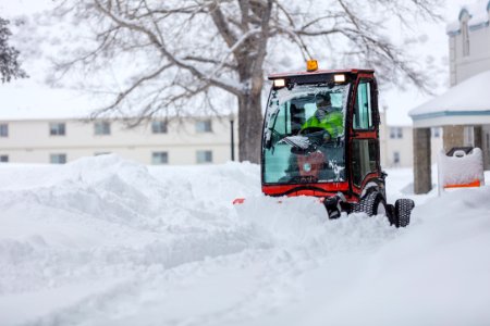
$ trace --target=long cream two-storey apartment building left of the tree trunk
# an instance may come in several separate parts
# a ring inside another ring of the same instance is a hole
[[[3,120],[0,161],[66,163],[117,153],[143,164],[224,163],[231,160],[230,125],[228,117],[155,120],[132,129],[117,120]]]

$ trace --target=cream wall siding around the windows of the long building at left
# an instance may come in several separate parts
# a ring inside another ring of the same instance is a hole
[[[65,153],[68,162],[100,152],[117,153],[125,159],[151,164],[152,152],[168,152],[169,164],[196,164],[196,152],[212,151],[213,163],[231,159],[230,122],[213,118],[211,133],[196,133],[195,118],[169,122],[167,134],[152,134],[146,124],[127,129],[121,122],[111,122],[111,134],[96,136],[94,123],[59,121],[66,123],[65,136],[50,136],[49,121],[4,121],[9,137],[0,138],[0,154],[9,155],[14,163],[49,163],[50,154]],[[235,124],[236,126],[237,124]],[[235,139],[237,133],[235,129]],[[235,146],[235,155],[237,147]]]

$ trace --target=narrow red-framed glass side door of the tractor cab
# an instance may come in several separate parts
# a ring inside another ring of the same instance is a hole
[[[353,98],[351,124],[351,187],[360,196],[370,183],[384,188],[379,164],[378,89],[372,75],[359,75]],[[383,189],[381,189],[383,191]],[[384,193],[383,193],[384,195]]]

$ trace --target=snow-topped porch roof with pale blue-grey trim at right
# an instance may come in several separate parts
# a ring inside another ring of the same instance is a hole
[[[413,109],[415,127],[490,124],[490,71],[473,76]]]

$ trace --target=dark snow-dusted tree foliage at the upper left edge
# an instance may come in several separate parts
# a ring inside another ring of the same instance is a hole
[[[12,35],[9,21],[0,17],[0,76],[2,83],[8,83],[14,78],[25,78],[27,74],[21,68],[17,62],[19,51],[9,46],[9,37]]]

